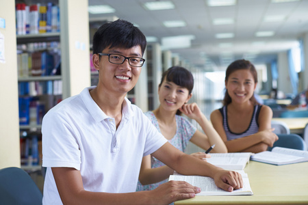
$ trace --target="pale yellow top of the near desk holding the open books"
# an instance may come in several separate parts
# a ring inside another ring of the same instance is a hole
[[[250,161],[244,171],[253,195],[196,196],[175,204],[308,204],[308,162],[276,166]]]

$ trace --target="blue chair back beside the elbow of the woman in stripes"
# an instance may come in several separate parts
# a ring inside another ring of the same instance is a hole
[[[291,134],[278,134],[279,139],[274,142],[274,147],[281,147],[281,148],[290,148],[296,150],[307,150],[305,141],[300,135],[291,133]],[[269,151],[272,148],[268,148]]]

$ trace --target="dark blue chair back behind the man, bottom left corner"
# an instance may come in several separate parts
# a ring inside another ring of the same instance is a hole
[[[42,204],[42,193],[31,176],[18,167],[0,169],[0,204]]]

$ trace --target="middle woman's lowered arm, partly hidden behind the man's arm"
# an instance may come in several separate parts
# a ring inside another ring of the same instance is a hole
[[[142,159],[139,181],[142,185],[153,184],[168,178],[174,170],[164,165],[162,167],[152,168],[151,155],[144,156]]]

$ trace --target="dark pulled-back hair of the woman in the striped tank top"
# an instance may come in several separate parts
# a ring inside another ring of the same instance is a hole
[[[255,80],[255,83],[258,82],[258,76],[257,76],[257,70],[255,70],[255,66],[251,64],[251,61],[247,61],[245,59],[238,59],[236,61],[233,61],[231,63],[227,70],[226,70],[226,77],[224,78],[224,82],[227,83],[229,76],[231,73],[235,72],[236,70],[249,70],[251,71],[251,74],[253,74],[253,79]],[[253,95],[249,100],[253,102],[253,105],[258,104],[257,100],[255,99],[255,96]],[[228,94],[227,88],[224,92],[224,99],[222,100],[223,105],[229,105],[231,103],[232,99]]]

